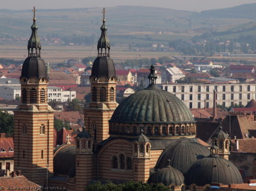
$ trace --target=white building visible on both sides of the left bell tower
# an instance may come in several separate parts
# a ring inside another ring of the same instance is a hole
[[[0,97],[4,100],[17,100],[20,98],[20,86],[0,86]],[[55,86],[48,86],[48,102],[68,102],[76,98],[76,91],[64,91]]]

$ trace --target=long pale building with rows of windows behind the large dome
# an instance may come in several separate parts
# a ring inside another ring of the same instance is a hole
[[[162,88],[182,100],[189,108],[213,107],[213,91],[217,104],[225,107],[246,105],[256,99],[256,84],[163,84]]]

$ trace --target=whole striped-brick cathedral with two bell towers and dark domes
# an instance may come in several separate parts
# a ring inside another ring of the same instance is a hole
[[[34,8],[20,77],[21,102],[14,115],[15,171],[38,185],[68,190],[84,190],[95,180],[163,183],[172,190],[242,183],[238,169],[228,161],[228,135],[220,126],[212,134],[211,149],[200,144],[191,112],[156,86],[154,66],[148,70],[147,88],[116,103],[115,64],[103,14],[83,131],[76,144],[54,148],[54,110],[47,104],[49,78],[40,56]]]

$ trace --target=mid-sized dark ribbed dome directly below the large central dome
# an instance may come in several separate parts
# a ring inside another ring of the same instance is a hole
[[[164,149],[157,161],[156,167],[157,169],[165,167],[168,159],[170,159],[172,167],[186,174],[196,160],[209,155],[210,150],[202,144],[191,139],[179,139],[178,141],[173,141]]]

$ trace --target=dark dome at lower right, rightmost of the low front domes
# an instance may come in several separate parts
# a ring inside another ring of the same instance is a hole
[[[243,183],[240,172],[232,162],[218,155],[211,155],[207,158],[197,160],[189,169],[186,175],[186,183],[195,183],[204,186],[211,183],[241,184]]]

